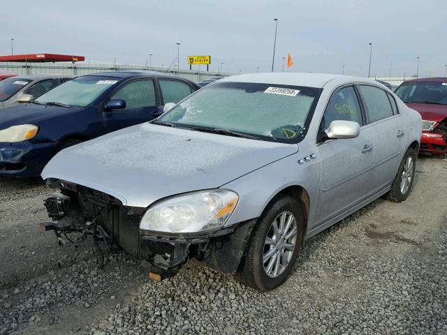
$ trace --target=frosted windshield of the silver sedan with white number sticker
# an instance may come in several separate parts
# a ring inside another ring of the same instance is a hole
[[[155,123],[298,143],[305,137],[320,94],[321,89],[312,87],[215,82]]]

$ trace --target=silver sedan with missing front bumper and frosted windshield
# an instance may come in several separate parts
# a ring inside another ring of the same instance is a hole
[[[197,258],[272,290],[305,239],[413,185],[420,114],[374,80],[237,75],[165,110],[59,152],[42,228],[120,246],[159,281]]]

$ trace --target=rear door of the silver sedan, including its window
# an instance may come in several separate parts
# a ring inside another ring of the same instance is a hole
[[[384,89],[366,84],[357,89],[373,136],[372,186],[379,192],[391,184],[402,159],[406,136],[402,115],[394,97]]]

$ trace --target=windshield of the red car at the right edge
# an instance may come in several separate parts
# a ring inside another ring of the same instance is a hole
[[[447,105],[446,82],[407,82],[395,94],[405,103],[441,103]]]

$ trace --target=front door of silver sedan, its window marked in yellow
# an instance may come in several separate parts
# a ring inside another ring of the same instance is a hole
[[[316,225],[342,214],[371,194],[373,140],[369,127],[364,126],[364,119],[353,86],[343,87],[332,94],[319,133],[323,133],[332,121],[346,120],[360,124],[360,135],[350,139],[321,137],[317,140],[321,184]]]

